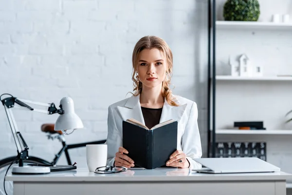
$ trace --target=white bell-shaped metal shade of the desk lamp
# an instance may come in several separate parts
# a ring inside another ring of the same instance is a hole
[[[62,98],[60,101],[60,108],[64,110],[64,114],[57,118],[55,122],[55,131],[66,131],[83,128],[81,119],[75,114],[72,98]]]

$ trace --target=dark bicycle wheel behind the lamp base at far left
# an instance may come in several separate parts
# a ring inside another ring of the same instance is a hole
[[[0,160],[0,195],[5,195],[4,192],[4,176],[5,173],[7,171],[7,168],[9,167],[9,165],[15,161],[15,159],[17,158],[17,156],[10,156],[7,158],[4,158],[2,160]],[[50,162],[35,157],[35,156],[29,156],[27,160],[23,160],[23,165],[27,165],[29,163],[41,163],[41,164],[51,164]],[[18,164],[14,163],[10,168],[7,174],[11,174],[11,170],[13,166],[18,166]],[[12,181],[6,181],[5,180],[5,189],[6,189],[6,193],[8,195],[12,195],[13,194],[13,182]]]

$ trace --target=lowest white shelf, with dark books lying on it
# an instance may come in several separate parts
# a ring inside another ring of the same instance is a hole
[[[239,134],[239,135],[292,135],[292,130],[237,130],[218,129],[216,134]]]

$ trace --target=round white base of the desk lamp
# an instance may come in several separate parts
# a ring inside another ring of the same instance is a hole
[[[12,174],[14,175],[37,175],[37,174],[49,174],[51,172],[50,167],[38,167],[38,166],[15,166],[12,168]]]

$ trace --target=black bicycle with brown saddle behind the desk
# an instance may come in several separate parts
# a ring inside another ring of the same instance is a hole
[[[41,131],[46,133],[47,137],[49,139],[52,139],[52,140],[58,139],[62,143],[62,148],[55,155],[55,158],[53,159],[53,161],[49,162],[49,161],[42,159],[40,157],[37,157],[37,156],[28,156],[28,159],[23,160],[23,163],[54,166],[54,165],[56,165],[60,156],[62,156],[62,154],[65,153],[68,165],[72,165],[72,161],[71,161],[71,158],[70,158],[70,155],[68,152],[69,149],[85,147],[88,144],[103,144],[106,142],[106,140],[99,140],[99,141],[82,142],[82,143],[67,145],[65,136],[63,135],[63,132],[62,131],[55,131],[54,127],[55,127],[55,124],[51,124],[51,123],[45,123],[41,126]],[[6,158],[1,159],[0,160],[0,174],[1,174],[1,172],[3,172],[3,171],[1,171],[1,169],[5,168],[6,166],[8,167],[9,165],[14,164],[14,163],[18,164],[18,161],[16,161],[16,158],[17,158],[17,156],[10,156],[10,157],[6,157]],[[6,172],[6,170],[4,170],[4,172]],[[1,189],[0,189],[0,193],[1,193]],[[3,192],[2,192],[2,194],[4,195]]]

